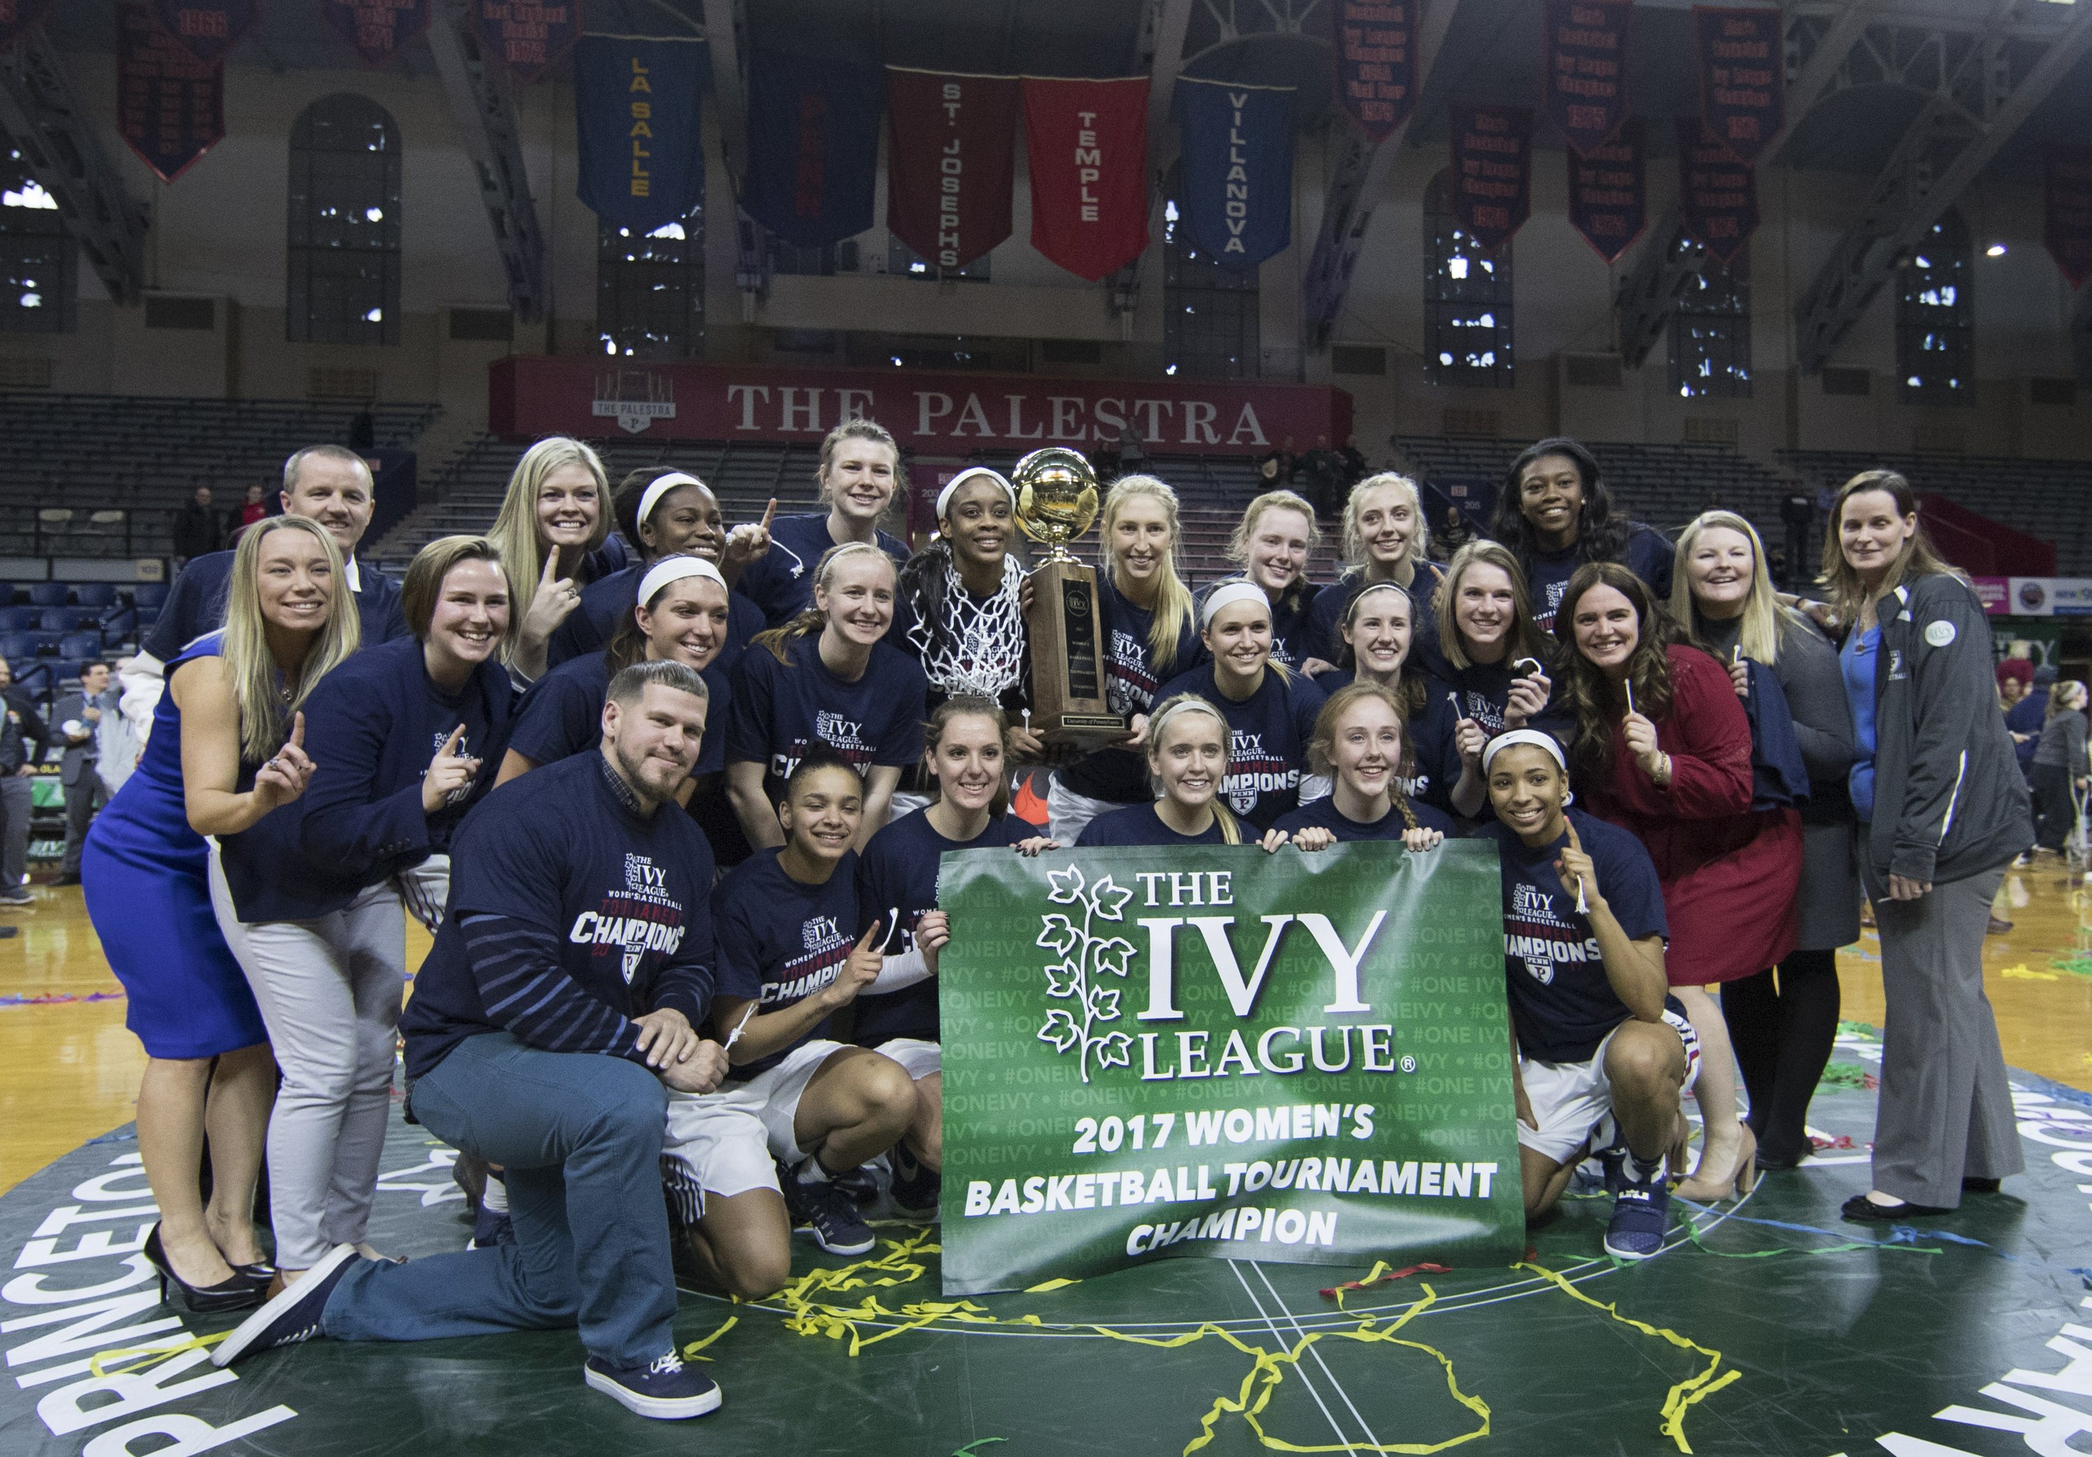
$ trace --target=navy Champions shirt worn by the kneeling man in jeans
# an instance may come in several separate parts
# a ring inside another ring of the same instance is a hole
[[[400,1016],[406,1072],[423,1077],[490,1016],[460,922],[500,916],[546,934],[596,1033],[676,1008],[692,1026],[713,991],[711,847],[688,815],[638,815],[602,755],[575,755],[487,794],[458,828],[450,905]],[[602,1012],[611,1016],[605,1016]]]

